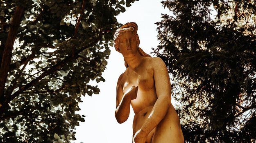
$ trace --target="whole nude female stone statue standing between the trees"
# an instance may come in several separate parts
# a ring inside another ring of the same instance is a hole
[[[161,58],[151,58],[138,47],[137,29],[135,22],[129,22],[114,36],[114,47],[127,67],[116,87],[116,119],[125,122],[131,105],[133,143],[184,143],[179,116],[171,104],[168,70]]]

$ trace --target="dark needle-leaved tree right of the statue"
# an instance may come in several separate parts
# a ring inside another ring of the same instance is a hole
[[[160,45],[154,53],[172,75],[186,142],[255,142],[255,1],[162,4],[173,14],[156,23]]]

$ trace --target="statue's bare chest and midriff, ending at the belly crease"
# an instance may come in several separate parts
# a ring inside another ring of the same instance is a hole
[[[137,98],[131,101],[134,113],[138,114],[146,107],[153,106],[157,100],[154,84],[154,71],[150,66],[150,58],[145,58],[136,71],[127,68],[123,78],[123,92],[131,86],[138,86]]]

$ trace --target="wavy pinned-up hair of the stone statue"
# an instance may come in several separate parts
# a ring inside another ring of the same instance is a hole
[[[145,53],[140,47],[140,39],[139,36],[137,34],[137,30],[138,30],[138,25],[135,22],[128,22],[125,25],[121,26],[120,28],[118,28],[116,30],[116,33],[114,35],[114,47],[115,49],[118,51],[119,47],[119,40],[120,37],[122,36],[122,34],[124,34],[125,32],[132,32],[136,38],[136,42],[137,42],[137,47],[138,47],[138,52],[141,56],[145,56],[145,57],[151,57],[149,54]],[[125,61],[125,67],[128,67],[127,62]]]

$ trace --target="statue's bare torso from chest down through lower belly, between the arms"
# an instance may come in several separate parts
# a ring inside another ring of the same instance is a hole
[[[157,96],[154,83],[154,71],[150,65],[151,58],[145,58],[140,66],[133,71],[127,68],[123,78],[123,92],[125,93],[131,86],[138,86],[137,98],[131,100],[131,106],[134,110],[133,132],[137,132],[150,115]],[[152,139],[154,130],[148,135],[148,143]]]

